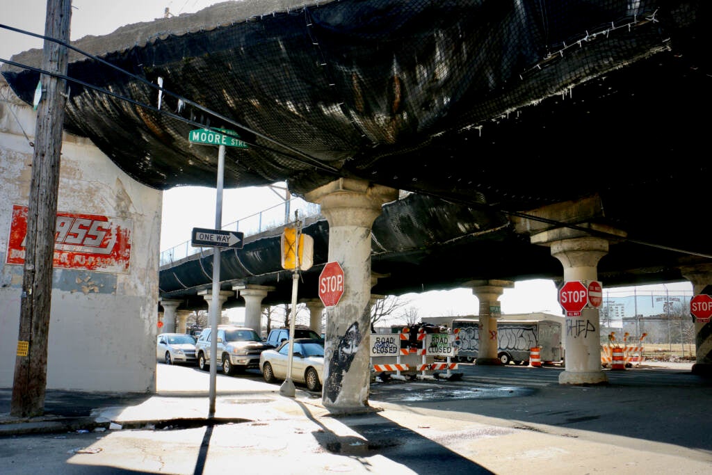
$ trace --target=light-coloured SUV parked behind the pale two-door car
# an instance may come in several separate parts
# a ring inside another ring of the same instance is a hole
[[[252,328],[237,325],[218,325],[216,362],[226,375],[244,372],[249,368],[260,367],[260,354],[268,348],[274,348],[262,341]],[[196,347],[198,367],[207,371],[210,368],[210,342],[212,328],[204,328],[200,333]]]

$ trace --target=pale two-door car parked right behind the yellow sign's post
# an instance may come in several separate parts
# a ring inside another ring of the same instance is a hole
[[[286,380],[289,361],[289,340],[277,348],[264,350],[260,355],[260,369],[266,382]],[[310,391],[321,390],[324,378],[324,340],[295,338],[292,355],[292,381],[306,385]]]

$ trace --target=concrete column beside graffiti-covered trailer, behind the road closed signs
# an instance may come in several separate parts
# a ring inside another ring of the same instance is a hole
[[[499,359],[499,338],[497,333],[497,318],[501,314],[499,297],[505,288],[513,288],[511,281],[471,281],[466,286],[472,287],[472,293],[480,302],[479,311],[479,350],[478,365],[501,365]]]

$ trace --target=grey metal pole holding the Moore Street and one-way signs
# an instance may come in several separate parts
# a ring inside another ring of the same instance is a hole
[[[215,229],[222,227],[222,189],[225,174],[225,145],[220,145],[218,150],[218,177],[215,199]],[[210,408],[208,418],[215,417],[215,381],[217,378],[218,352],[218,306],[220,305],[220,248],[213,248],[213,290],[210,304]]]

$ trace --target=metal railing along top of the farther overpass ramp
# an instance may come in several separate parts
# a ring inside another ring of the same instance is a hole
[[[237,221],[232,221],[229,224],[224,224],[221,229],[229,231],[240,231],[244,237],[254,236],[268,229],[275,229],[280,226],[285,226],[294,221],[294,212],[299,212],[300,218],[310,216],[318,216],[321,212],[321,207],[315,203],[305,202],[301,198],[292,198],[281,204],[275,204],[272,207],[263,209],[263,211],[245,216]],[[193,254],[199,254],[204,247],[193,247],[191,241],[177,244],[170,249],[161,251],[159,266],[185,259]]]

